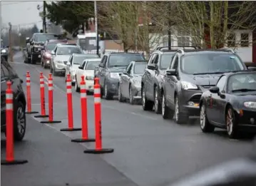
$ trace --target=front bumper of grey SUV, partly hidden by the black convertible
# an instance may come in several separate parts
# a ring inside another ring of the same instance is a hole
[[[191,116],[200,115],[199,103],[202,94],[202,91],[181,91],[179,96],[180,110],[183,110],[183,113],[187,113]]]

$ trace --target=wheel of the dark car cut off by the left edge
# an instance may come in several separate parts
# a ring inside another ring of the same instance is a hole
[[[26,133],[25,106],[21,101],[14,105],[14,140],[21,141]]]

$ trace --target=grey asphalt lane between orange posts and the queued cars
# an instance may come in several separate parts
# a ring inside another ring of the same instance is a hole
[[[26,71],[31,72],[32,95],[35,97],[32,98],[32,108],[39,111],[39,99],[36,99],[40,96],[39,72],[48,77],[49,70],[41,68],[39,64],[24,64],[23,61],[18,56],[14,66],[20,77],[24,78]],[[53,118],[62,123],[48,126],[59,131],[68,125],[64,77],[53,77],[53,84]],[[80,95],[73,88],[75,127],[81,126],[80,107]],[[90,137],[94,136],[93,117],[93,96],[88,95]],[[163,120],[161,115],[143,111],[141,105],[118,103],[117,100],[102,100],[102,133],[103,148],[114,148],[115,152],[100,157],[138,185],[165,185],[209,165],[253,151],[250,140],[230,140],[223,130],[203,134],[198,122],[177,125],[173,120]],[[81,136],[81,132],[64,134],[70,138]],[[94,148],[94,143],[82,145]]]

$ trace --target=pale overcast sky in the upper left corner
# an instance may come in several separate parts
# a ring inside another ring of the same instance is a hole
[[[36,24],[42,29],[42,19],[39,16],[39,10],[36,6],[43,5],[43,1],[1,1],[1,20],[3,27],[8,27],[8,23],[17,29],[20,25],[24,27],[33,26]],[[42,8],[40,9],[42,11]]]

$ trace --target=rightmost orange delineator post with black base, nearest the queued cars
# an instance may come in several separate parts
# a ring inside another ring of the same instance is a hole
[[[102,138],[101,138],[101,86],[98,83],[99,79],[95,78],[94,85],[94,112],[95,112],[95,136],[96,136],[96,146],[95,149],[84,150],[84,153],[91,154],[103,154],[103,153],[113,153],[112,148],[102,148]]]

